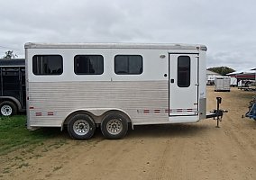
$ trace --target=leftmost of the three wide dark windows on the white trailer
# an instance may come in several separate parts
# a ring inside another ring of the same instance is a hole
[[[35,55],[32,57],[34,75],[61,75],[63,58],[60,55]]]

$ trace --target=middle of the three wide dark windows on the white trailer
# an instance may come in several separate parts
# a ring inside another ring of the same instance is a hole
[[[102,75],[104,59],[101,55],[77,55],[74,58],[76,75]]]

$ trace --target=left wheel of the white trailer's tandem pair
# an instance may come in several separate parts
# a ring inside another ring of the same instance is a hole
[[[68,124],[69,136],[73,139],[90,139],[96,130],[96,124],[87,114],[74,115]]]

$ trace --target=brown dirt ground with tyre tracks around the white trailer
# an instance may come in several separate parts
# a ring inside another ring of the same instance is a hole
[[[120,140],[56,139],[0,157],[0,179],[256,179],[256,121],[242,119],[255,92],[207,87],[207,109],[215,97],[229,112],[215,128],[197,123],[137,126]],[[248,95],[247,95],[248,96]]]

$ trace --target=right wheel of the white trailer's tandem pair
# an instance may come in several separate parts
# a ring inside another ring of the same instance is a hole
[[[128,122],[118,113],[105,116],[101,123],[101,131],[106,139],[122,139],[128,130]]]

